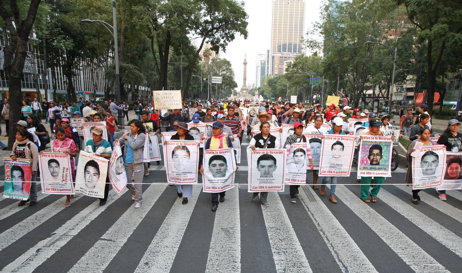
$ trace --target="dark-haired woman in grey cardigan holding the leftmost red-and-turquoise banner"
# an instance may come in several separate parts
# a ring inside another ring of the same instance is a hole
[[[12,160],[17,159],[28,159],[30,160],[30,194],[27,200],[21,200],[18,206],[24,206],[25,203],[29,202],[29,206],[33,206],[37,203],[37,163],[38,163],[38,148],[34,142],[31,142],[32,136],[26,129],[22,129],[16,132],[16,141],[13,143],[13,148],[10,154]]]

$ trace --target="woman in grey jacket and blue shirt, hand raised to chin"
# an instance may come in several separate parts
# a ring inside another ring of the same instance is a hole
[[[127,173],[128,180],[133,176],[135,184],[127,183],[127,188],[132,194],[132,200],[135,201],[135,208],[140,208],[143,203],[141,183],[143,183],[144,177],[143,151],[146,142],[146,128],[140,120],[132,119],[130,122],[130,132],[116,139],[115,142],[120,142],[121,146],[125,144],[122,151],[125,172]]]

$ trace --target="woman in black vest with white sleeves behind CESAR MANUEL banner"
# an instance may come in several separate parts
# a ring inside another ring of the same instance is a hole
[[[274,137],[273,135],[269,134],[269,122],[263,121],[260,124],[260,133],[256,134],[254,137],[249,142],[249,146],[247,146],[247,150],[255,150],[256,148],[260,149],[267,149],[267,148],[276,148],[279,149],[281,147],[281,144],[278,140],[277,137]],[[258,196],[258,192],[254,192],[252,196],[250,196],[250,200],[255,200],[255,198]],[[261,191],[260,192],[260,203],[263,205],[263,207],[267,208],[269,207],[268,202],[267,202],[267,196],[268,192],[267,191]]]

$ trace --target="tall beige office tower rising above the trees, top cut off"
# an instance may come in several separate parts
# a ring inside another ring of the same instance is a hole
[[[273,0],[271,24],[271,76],[284,74],[288,62],[302,54],[304,0]]]

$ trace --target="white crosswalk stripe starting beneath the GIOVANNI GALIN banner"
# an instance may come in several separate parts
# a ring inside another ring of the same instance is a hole
[[[298,197],[342,272],[377,272],[353,238],[310,187],[300,189]]]

